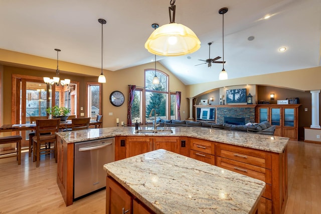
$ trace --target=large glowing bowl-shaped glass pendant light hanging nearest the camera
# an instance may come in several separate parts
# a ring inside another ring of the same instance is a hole
[[[199,50],[201,42],[196,34],[188,27],[175,23],[175,0],[171,0],[170,4],[170,24],[155,30],[147,39],[145,49],[159,56],[183,56]]]

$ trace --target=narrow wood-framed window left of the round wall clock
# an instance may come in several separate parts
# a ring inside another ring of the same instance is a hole
[[[87,116],[95,120],[101,109],[101,84],[87,83]]]

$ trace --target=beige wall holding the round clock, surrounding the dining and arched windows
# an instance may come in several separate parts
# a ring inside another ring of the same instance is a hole
[[[3,97],[1,114],[2,124],[11,123],[11,82],[12,74],[23,74],[30,76],[55,76],[55,69],[57,67],[57,60],[46,59],[42,57],[22,54],[18,52],[11,52],[0,49],[0,65],[4,64],[1,92],[6,91]],[[70,78],[72,81],[79,81],[79,107],[84,107],[83,111],[87,112],[86,106],[86,82],[97,82],[101,69],[91,68],[88,66],[81,66],[72,63],[59,61],[60,77]],[[164,66],[157,63],[157,70],[161,70],[169,75],[170,91],[181,91],[181,119],[189,117],[189,105],[186,98],[186,86],[178,80],[171,72]],[[116,126],[116,118],[119,121],[127,121],[127,104],[128,104],[128,85],[144,86],[144,70],[154,69],[154,63],[149,63],[133,68],[123,69],[119,71],[104,70],[106,76],[106,83],[102,84],[102,99],[103,99],[103,126]],[[0,70],[1,71],[1,70]],[[77,73],[74,75],[73,73]],[[81,75],[79,75],[81,74]],[[112,91],[121,91],[125,95],[125,102],[120,107],[115,107],[109,102],[109,95]],[[4,104],[6,103],[6,104]]]

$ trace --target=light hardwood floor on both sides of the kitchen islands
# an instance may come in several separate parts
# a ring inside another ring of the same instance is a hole
[[[23,152],[0,159],[0,213],[105,213],[105,190],[65,206],[56,184],[57,164],[42,156],[40,167]],[[288,201],[285,213],[321,214],[321,145],[289,141]]]

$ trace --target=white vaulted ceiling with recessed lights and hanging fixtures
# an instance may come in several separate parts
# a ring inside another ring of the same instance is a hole
[[[177,0],[176,23],[194,31],[201,48],[157,61],[186,85],[217,81],[222,64],[199,59],[222,57],[229,79],[320,66],[321,0]],[[168,24],[170,0],[0,0],[0,48],[111,71],[150,63],[144,43],[151,24]],[[262,19],[266,15],[271,18]],[[253,41],[248,41],[254,36]],[[284,53],[278,48],[286,47]],[[54,68],[53,68],[54,69]],[[64,70],[60,67],[61,70]]]

